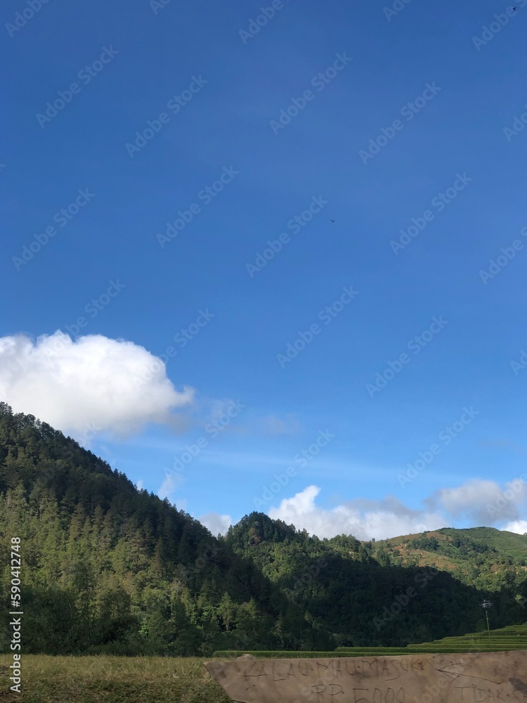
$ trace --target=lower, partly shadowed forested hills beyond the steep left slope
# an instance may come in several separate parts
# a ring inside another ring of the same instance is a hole
[[[482,591],[474,583],[453,578],[441,563],[433,567],[434,555],[424,558],[426,535],[400,539],[402,543],[417,541],[419,560],[407,559],[404,564],[384,542],[361,543],[344,535],[320,540],[305,531],[294,534],[292,527],[262,513],[245,517],[226,536],[236,553],[252,559],[265,576],[306,609],[310,620],[323,622],[339,644],[346,640],[351,645],[398,645],[482,629],[486,626],[479,607],[483,598],[494,602],[491,619],[495,627],[527,619],[523,557],[504,557],[490,548],[495,560],[484,557],[488,578],[482,579]],[[462,541],[457,548],[460,562],[463,549],[467,562],[474,554],[486,554],[484,543],[478,543],[479,551],[474,552],[470,538],[455,537],[454,542],[457,540]],[[504,562],[507,566],[500,568]]]

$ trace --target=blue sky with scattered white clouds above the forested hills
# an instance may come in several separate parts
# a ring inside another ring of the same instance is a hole
[[[32,7],[2,11],[4,399],[213,531],[527,531],[527,2]]]

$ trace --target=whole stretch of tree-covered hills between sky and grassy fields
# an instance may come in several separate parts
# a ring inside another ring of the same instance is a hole
[[[404,645],[483,628],[483,598],[495,604],[493,626],[527,619],[527,536],[477,528],[320,540],[253,512],[215,537],[62,432],[0,404],[6,604],[13,536],[28,653]]]

